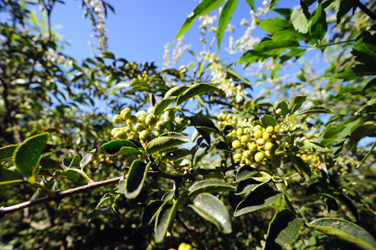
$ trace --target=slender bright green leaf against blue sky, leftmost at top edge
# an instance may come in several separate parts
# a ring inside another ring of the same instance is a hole
[[[177,33],[177,36],[175,37],[175,41],[181,37],[190,26],[192,26],[195,19],[199,16],[206,15],[207,13],[211,12],[211,10],[215,10],[218,8],[224,0],[203,0],[201,1],[196,8],[193,10],[193,12],[188,15],[186,22],[181,26],[179,32]]]

